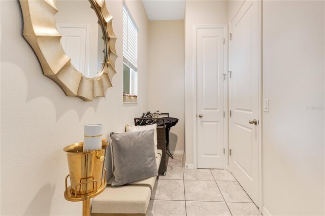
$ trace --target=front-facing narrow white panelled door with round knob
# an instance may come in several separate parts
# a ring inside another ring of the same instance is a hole
[[[224,168],[225,30],[197,29],[198,168]]]

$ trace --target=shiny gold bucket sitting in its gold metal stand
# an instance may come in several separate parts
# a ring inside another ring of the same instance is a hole
[[[83,153],[83,142],[67,146],[69,174],[66,177],[64,198],[71,202],[82,201],[82,215],[90,215],[90,198],[102,193],[106,188],[106,169],[104,168],[106,147],[109,143],[102,142],[102,149]],[[104,170],[104,178],[103,177]],[[68,187],[68,177],[71,186]]]

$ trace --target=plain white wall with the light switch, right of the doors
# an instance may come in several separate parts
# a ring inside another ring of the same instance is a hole
[[[264,206],[324,215],[324,2],[263,2]],[[308,110],[315,106],[315,110]]]

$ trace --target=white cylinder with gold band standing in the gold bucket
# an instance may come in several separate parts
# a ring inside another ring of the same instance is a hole
[[[102,149],[103,125],[85,124],[83,138],[83,152]]]

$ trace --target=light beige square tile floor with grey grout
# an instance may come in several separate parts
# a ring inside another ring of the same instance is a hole
[[[185,169],[182,155],[168,164],[172,169],[156,181],[146,215],[261,215],[228,170]]]

